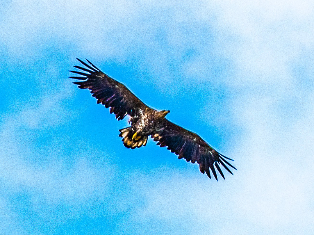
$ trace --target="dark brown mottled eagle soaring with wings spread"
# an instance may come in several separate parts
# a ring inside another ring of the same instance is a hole
[[[220,168],[222,166],[233,175],[228,167],[236,170],[227,160],[234,161],[208,145],[198,134],[182,128],[169,121],[166,117],[170,110],[155,110],[144,104],[125,85],[103,73],[89,60],[84,61],[77,58],[84,67],[74,66],[80,71],[69,70],[80,76],[69,78],[81,81],[73,82],[80,89],[89,89],[92,96],[97,99],[98,104],[110,107],[110,113],[114,113],[116,119],[122,120],[130,116],[131,126],[123,128],[119,136],[127,148],[135,149],[145,146],[149,136],[157,142],[160,147],[178,155],[179,159],[187,162],[197,162],[199,170],[211,178],[210,170],[218,181],[216,170],[222,178],[225,176]]]

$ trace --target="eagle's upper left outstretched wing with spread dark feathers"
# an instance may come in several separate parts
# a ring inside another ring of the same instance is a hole
[[[110,108],[110,113],[114,113],[118,120],[122,120],[127,114],[133,117],[138,110],[145,109],[146,105],[138,99],[125,85],[104,74],[94,64],[87,59],[86,64],[77,58],[79,62],[86,66],[74,66],[81,71],[70,71],[82,76],[70,77],[84,80],[73,82],[78,88],[89,89],[92,96],[97,99],[97,103],[102,103],[106,108]]]

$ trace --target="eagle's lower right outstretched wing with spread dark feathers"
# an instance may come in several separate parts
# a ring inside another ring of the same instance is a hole
[[[216,169],[225,179],[225,176],[220,168],[220,165],[223,166],[230,174],[233,173],[227,167],[232,166],[226,159],[233,161],[232,159],[220,154],[209,146],[198,134],[195,134],[187,129],[184,129],[167,119],[165,119],[164,128],[151,136],[154,138],[154,141],[158,141],[157,145],[160,147],[168,146],[168,150],[171,150],[172,153],[179,155],[179,159],[184,158],[187,161],[192,163],[197,162],[199,164],[199,170],[204,174],[210,177],[211,169],[215,179],[217,179]]]

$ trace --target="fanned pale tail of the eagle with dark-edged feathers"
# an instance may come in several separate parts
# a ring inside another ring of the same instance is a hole
[[[127,127],[119,131],[119,136],[123,138],[123,145],[128,149],[135,149],[136,147],[139,148],[142,145],[145,146],[147,143],[148,136],[138,136],[136,133],[133,133],[134,131],[131,127]],[[134,138],[134,136],[136,136],[136,138]]]

